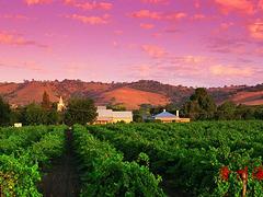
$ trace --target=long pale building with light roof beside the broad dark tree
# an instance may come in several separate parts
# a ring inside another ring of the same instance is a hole
[[[98,106],[96,109],[98,117],[94,124],[110,124],[110,123],[130,123],[133,121],[132,112],[114,112],[112,109],[106,109],[106,106]]]

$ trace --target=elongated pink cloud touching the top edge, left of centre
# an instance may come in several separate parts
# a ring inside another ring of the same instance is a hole
[[[65,0],[65,4],[80,8],[82,10],[111,10],[113,4],[110,2],[77,2],[76,0]]]

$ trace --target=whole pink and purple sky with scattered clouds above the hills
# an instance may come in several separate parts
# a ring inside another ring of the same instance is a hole
[[[263,82],[263,0],[0,0],[0,81]]]

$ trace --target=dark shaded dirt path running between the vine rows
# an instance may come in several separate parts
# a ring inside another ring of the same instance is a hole
[[[52,163],[52,169],[45,172],[39,184],[44,197],[77,197],[79,196],[79,175],[77,159],[72,150],[72,132],[66,131],[66,152]]]

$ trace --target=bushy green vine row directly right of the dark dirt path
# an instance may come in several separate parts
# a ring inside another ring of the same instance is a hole
[[[164,196],[158,187],[161,177],[148,166],[124,162],[110,143],[95,139],[84,127],[76,125],[73,136],[83,171],[81,196]]]

